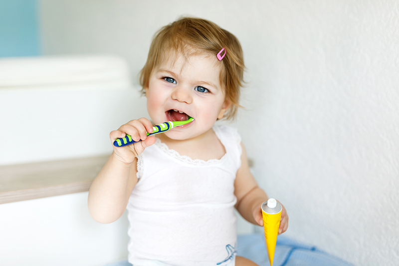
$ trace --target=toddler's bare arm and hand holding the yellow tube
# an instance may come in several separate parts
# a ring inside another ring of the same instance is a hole
[[[245,147],[241,144],[241,167],[234,182],[234,194],[237,197],[235,208],[240,215],[254,225],[263,226],[261,205],[268,200],[266,193],[258,187],[255,178],[249,171]],[[288,228],[288,215],[283,206],[279,234]]]

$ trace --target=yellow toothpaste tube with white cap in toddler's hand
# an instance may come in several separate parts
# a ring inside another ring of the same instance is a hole
[[[269,199],[262,203],[263,228],[265,230],[266,249],[270,266],[273,266],[282,209],[281,204],[275,199]]]

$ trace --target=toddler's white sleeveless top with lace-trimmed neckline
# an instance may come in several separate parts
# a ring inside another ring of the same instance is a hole
[[[241,138],[229,126],[213,130],[226,151],[220,160],[181,156],[159,139],[138,157],[127,206],[134,266],[235,265]]]

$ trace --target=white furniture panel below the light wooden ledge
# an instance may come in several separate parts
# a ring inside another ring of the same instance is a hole
[[[127,216],[95,222],[88,192],[0,205],[1,266],[104,266],[126,259]]]

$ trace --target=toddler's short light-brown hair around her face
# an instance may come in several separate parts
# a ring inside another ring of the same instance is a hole
[[[231,103],[224,117],[233,119],[238,107],[241,107],[238,103],[244,72],[241,45],[233,34],[205,19],[183,17],[162,27],[156,33],[150,46],[147,62],[140,72],[142,92],[145,93],[154,68],[166,59],[171,49],[176,54],[181,53],[184,56],[194,53],[208,53],[216,56],[223,47],[226,54],[220,60],[219,78],[226,100]]]

